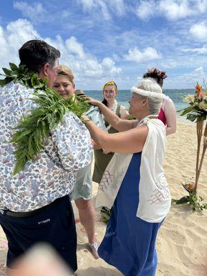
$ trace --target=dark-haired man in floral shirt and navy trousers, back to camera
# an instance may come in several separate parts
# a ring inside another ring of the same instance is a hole
[[[40,40],[19,49],[21,64],[54,82],[59,50]],[[68,194],[77,170],[90,164],[90,135],[81,121],[69,112],[50,132],[44,148],[24,169],[12,175],[16,159],[10,143],[14,127],[28,110],[37,108],[31,100],[34,89],[10,82],[0,88],[0,224],[8,239],[8,270],[14,260],[37,242],[48,242],[77,270],[77,237]]]

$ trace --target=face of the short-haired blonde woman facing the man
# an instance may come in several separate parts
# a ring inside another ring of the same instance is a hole
[[[68,99],[75,94],[75,84],[69,81],[67,76],[57,75],[52,88],[63,97],[63,99]]]

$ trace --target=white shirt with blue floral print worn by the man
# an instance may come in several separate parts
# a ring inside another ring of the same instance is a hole
[[[37,108],[30,100],[32,89],[20,83],[0,87],[0,209],[27,212],[50,204],[72,192],[77,170],[90,164],[90,133],[79,118],[69,112],[51,131],[46,145],[34,161],[12,176],[14,146],[10,144],[14,126],[28,110]]]

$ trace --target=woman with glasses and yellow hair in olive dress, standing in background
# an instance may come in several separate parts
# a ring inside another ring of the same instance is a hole
[[[103,101],[102,103],[107,106],[109,110],[115,113],[119,118],[124,119],[128,117],[128,111],[124,106],[121,106],[117,103],[117,84],[115,81],[108,81],[104,84],[103,89]],[[105,126],[108,130],[108,133],[115,133],[117,130],[113,128],[106,118],[104,119]],[[104,170],[106,170],[106,166],[112,159],[114,152],[108,151],[104,148],[94,150],[95,155],[95,168],[92,175],[92,180],[99,183],[101,181],[101,177],[103,176]]]

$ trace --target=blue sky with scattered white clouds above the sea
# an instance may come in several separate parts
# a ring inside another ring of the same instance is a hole
[[[130,89],[152,67],[164,88],[194,88],[207,79],[206,14],[207,0],[1,0],[0,66],[36,37],[59,48],[79,89]]]

